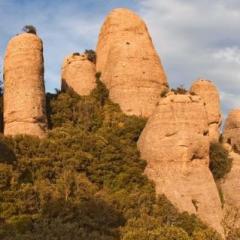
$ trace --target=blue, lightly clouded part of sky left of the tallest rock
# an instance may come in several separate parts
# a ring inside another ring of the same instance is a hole
[[[114,7],[136,9],[131,0],[0,0],[0,61],[8,40],[26,24],[36,26],[44,42],[46,89],[60,87],[64,57],[95,49],[105,15]]]

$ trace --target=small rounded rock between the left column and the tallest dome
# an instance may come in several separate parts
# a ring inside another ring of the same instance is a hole
[[[62,90],[72,89],[79,95],[89,95],[96,86],[96,66],[85,54],[72,54],[62,66]]]

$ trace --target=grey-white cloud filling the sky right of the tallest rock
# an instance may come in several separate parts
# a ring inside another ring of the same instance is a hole
[[[222,109],[240,106],[240,2],[139,0],[172,87],[207,78],[220,89]]]

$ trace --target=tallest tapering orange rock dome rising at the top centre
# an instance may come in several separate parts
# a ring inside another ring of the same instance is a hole
[[[97,71],[124,113],[148,117],[167,79],[145,23],[128,9],[106,18],[97,45]]]

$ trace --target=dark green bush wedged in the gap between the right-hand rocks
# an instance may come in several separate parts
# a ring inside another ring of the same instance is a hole
[[[210,146],[210,170],[215,179],[223,178],[232,167],[232,159],[221,143]]]

